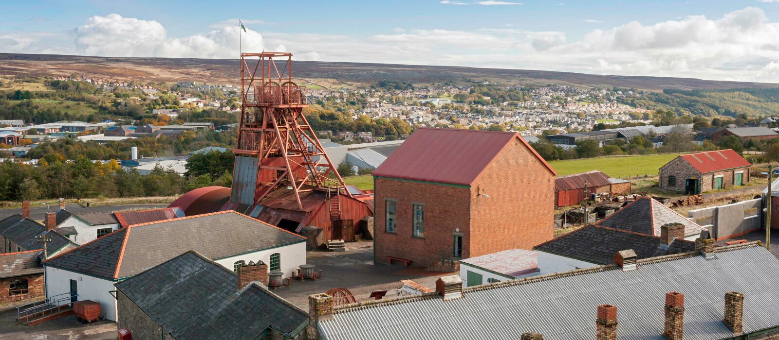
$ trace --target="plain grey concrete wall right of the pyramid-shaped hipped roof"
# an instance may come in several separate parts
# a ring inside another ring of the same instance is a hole
[[[713,238],[735,238],[760,229],[762,210],[763,199],[749,199],[724,206],[689,210],[688,217],[707,228]]]

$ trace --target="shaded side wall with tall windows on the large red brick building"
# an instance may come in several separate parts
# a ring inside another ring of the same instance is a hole
[[[386,256],[390,255],[411,260],[414,266],[428,267],[441,258],[452,257],[456,228],[463,233],[463,255],[467,257],[469,193],[470,189],[466,187],[375,179],[375,262],[386,263]],[[395,233],[386,232],[387,198],[397,199]],[[425,238],[411,236],[415,202],[425,203]]]

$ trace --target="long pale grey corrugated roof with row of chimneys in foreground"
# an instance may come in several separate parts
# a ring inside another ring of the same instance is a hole
[[[745,334],[779,324],[779,261],[756,243],[717,248],[714,258],[694,253],[640,260],[638,269],[614,265],[464,289],[443,301],[435,293],[390,303],[335,307],[319,321],[327,340],[520,338],[538,331],[546,340],[595,338],[597,306],[617,307],[617,338],[661,340],[664,295],[685,295],[685,340],[731,338],[722,323],[724,294],[744,294]]]

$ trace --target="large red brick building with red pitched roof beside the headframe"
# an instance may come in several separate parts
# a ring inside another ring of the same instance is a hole
[[[375,262],[431,267],[552,239],[555,170],[519,134],[421,128],[373,178]]]

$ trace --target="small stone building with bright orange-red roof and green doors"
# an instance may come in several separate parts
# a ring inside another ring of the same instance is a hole
[[[660,189],[704,193],[749,182],[749,161],[731,149],[682,154],[660,168]]]

